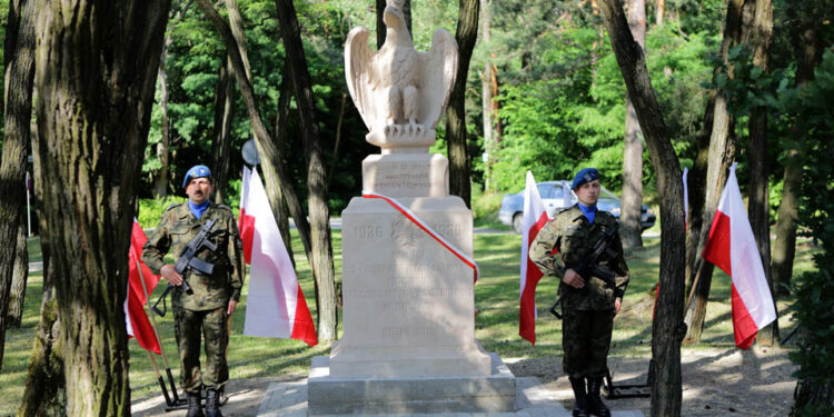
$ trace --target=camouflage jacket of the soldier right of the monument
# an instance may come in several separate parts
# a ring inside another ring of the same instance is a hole
[[[575,266],[590,254],[594,245],[603,236],[603,229],[614,227],[617,219],[607,211],[597,211],[594,225],[583,215],[577,205],[559,212],[548,222],[530,244],[529,256],[545,275],[564,278],[565,269]],[[598,266],[614,272],[616,287],[597,277],[585,277],[585,288],[565,295],[564,308],[576,310],[606,310],[614,308],[614,299],[622,298],[628,285],[628,267],[623,257],[623,244],[619,232],[614,236],[609,247],[616,256],[599,256]],[[553,254],[554,249],[558,254]],[[570,287],[559,282],[559,294]]]

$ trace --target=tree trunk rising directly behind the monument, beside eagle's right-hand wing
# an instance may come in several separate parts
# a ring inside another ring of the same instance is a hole
[[[471,207],[471,161],[466,139],[466,79],[469,60],[478,37],[478,0],[460,0],[455,40],[458,66],[455,86],[446,108],[446,141],[449,156],[449,193],[460,197]]]

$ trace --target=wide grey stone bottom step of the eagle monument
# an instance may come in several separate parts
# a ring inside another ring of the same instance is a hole
[[[330,358],[316,356],[307,381],[308,415],[513,413],[516,377],[489,354],[493,373],[481,377],[330,377]]]

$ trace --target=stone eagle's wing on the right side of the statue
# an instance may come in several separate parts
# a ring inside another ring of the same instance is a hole
[[[449,95],[457,76],[457,42],[448,31],[435,30],[431,49],[419,52],[423,90],[418,120],[428,129],[435,129],[440,112],[449,102]]]

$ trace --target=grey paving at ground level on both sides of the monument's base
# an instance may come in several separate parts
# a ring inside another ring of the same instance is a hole
[[[441,413],[415,414],[409,416],[436,417],[569,417],[559,403],[553,400],[553,393],[546,389],[538,378],[516,379],[516,413]],[[615,417],[644,417],[638,410],[614,411]],[[306,417],[307,380],[272,383],[260,401],[258,417]],[[405,415],[398,415],[405,416]],[[336,417],[336,416],[332,416]]]

